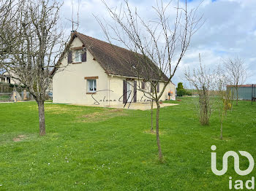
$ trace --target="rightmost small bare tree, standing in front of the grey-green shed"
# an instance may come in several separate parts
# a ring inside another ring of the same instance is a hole
[[[236,106],[238,105],[238,87],[239,85],[244,84],[246,81],[246,67],[244,65],[244,60],[236,57],[236,58],[228,58],[223,60],[225,71],[227,75],[227,79],[229,79],[229,83],[231,86],[236,89]]]

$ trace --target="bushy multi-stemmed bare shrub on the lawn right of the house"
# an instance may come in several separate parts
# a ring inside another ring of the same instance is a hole
[[[206,70],[206,66],[202,65],[200,54],[199,62],[198,69],[194,69],[192,73],[188,69],[184,75],[190,85],[195,87],[199,95],[200,123],[201,125],[208,125],[211,117],[210,90],[214,90],[214,72]]]

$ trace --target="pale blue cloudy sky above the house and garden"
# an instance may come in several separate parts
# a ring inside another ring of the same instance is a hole
[[[116,7],[121,0],[105,0],[110,7]],[[132,7],[138,9],[141,17],[150,20],[154,17],[152,6],[154,0],[130,0]],[[181,4],[184,0],[181,0]],[[72,6],[73,4],[73,6]],[[192,36],[189,50],[182,59],[173,82],[184,82],[184,69],[197,68],[200,53],[201,61],[209,69],[214,69],[223,59],[240,57],[249,74],[245,83],[256,83],[256,0],[189,0],[188,7],[198,7],[197,15],[203,15],[203,26]],[[72,17],[77,20],[79,13],[78,31],[82,34],[105,40],[105,34],[94,15],[112,22],[101,0],[64,0],[61,8],[61,19],[64,31],[72,30]],[[170,4],[173,12],[176,0]]]

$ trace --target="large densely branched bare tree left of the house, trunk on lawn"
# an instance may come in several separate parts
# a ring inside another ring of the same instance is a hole
[[[61,4],[50,0],[20,0],[11,1],[10,7],[0,30],[1,45],[4,46],[1,66],[25,85],[37,101],[39,133],[43,136],[44,103],[51,84],[50,71],[61,52]]]

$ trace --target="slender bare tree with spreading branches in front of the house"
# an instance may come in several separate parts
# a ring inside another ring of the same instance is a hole
[[[113,25],[98,17],[97,20],[108,42],[118,42],[134,52],[136,61],[129,61],[121,54],[118,56],[123,58],[124,63],[134,67],[138,81],[143,79],[150,84],[150,91],[141,88],[140,83],[137,88],[157,104],[156,135],[159,160],[162,161],[159,139],[159,101],[176,73],[189,47],[192,35],[199,27],[200,18],[195,14],[197,9],[188,9],[187,1],[182,6],[177,3],[173,9],[170,3],[164,4],[162,1],[157,1],[157,6],[152,7],[155,19],[146,21],[127,0],[124,0],[124,5],[119,9],[110,8],[105,1],[103,3],[113,19]],[[176,12],[175,17],[171,16],[173,11]],[[164,82],[161,90],[158,87],[159,82]]]

